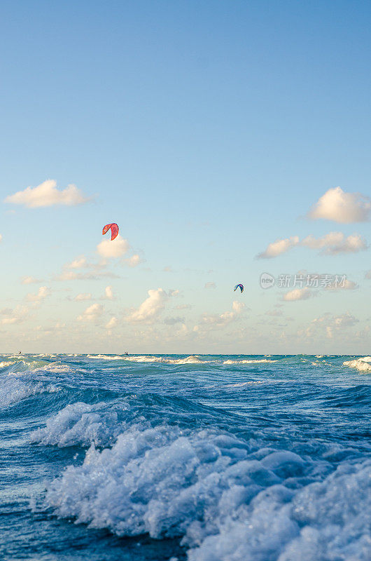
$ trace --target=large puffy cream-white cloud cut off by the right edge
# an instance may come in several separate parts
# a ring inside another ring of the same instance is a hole
[[[308,213],[309,218],[333,220],[341,224],[367,222],[370,219],[371,198],[360,193],[344,193],[340,187],[328,189]]]

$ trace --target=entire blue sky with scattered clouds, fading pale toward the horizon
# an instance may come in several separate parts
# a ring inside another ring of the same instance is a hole
[[[370,354],[369,2],[0,15],[0,352]]]

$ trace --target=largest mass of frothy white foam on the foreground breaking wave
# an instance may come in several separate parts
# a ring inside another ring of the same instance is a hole
[[[371,461],[328,469],[228,433],[134,424],[92,445],[46,501],[119,536],[179,536],[190,561],[368,561]]]

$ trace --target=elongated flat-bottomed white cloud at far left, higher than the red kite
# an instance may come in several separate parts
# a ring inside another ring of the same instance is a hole
[[[87,203],[89,200],[76,185],[71,184],[65,189],[57,189],[55,180],[47,180],[37,187],[27,187],[24,191],[7,196],[4,203],[39,208],[52,205],[74,206]]]

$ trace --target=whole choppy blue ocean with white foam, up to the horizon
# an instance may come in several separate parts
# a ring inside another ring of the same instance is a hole
[[[371,357],[0,356],[0,557],[370,561]]]

